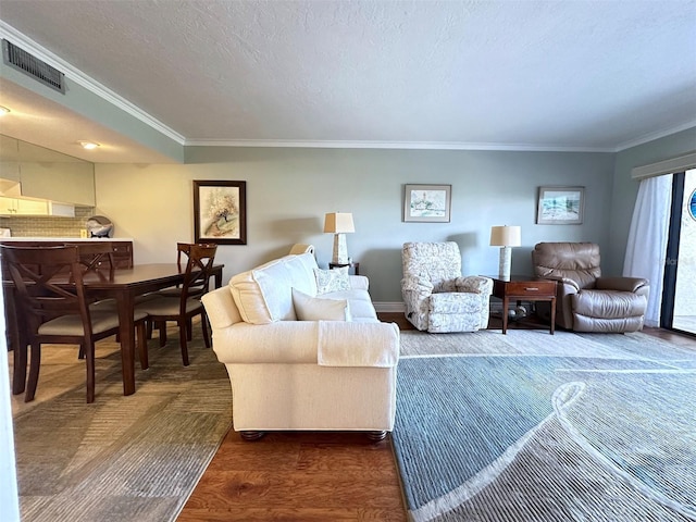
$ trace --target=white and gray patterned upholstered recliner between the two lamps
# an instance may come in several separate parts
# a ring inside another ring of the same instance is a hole
[[[462,277],[456,243],[406,243],[401,262],[406,318],[413,326],[433,333],[487,327],[493,279]]]

